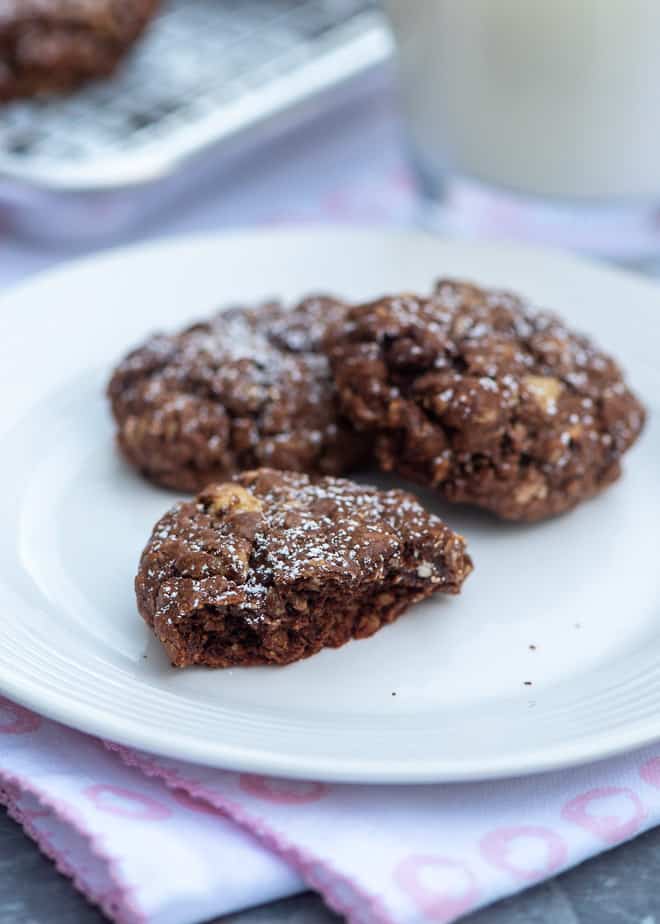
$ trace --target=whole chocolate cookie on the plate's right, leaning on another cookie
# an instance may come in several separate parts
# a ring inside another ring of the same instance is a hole
[[[644,409],[586,337],[522,299],[441,281],[352,309],[329,332],[342,407],[385,470],[511,520],[615,481]]]

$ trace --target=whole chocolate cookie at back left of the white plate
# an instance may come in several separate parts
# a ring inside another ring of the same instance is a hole
[[[341,302],[312,297],[233,309],[182,333],[156,336],[109,385],[126,458],[153,481],[196,491],[261,465],[341,474],[368,440],[338,415],[319,344]]]

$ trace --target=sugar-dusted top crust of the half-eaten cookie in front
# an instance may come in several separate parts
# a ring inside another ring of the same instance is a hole
[[[224,507],[214,506],[211,486],[154,529],[138,580],[169,626],[221,607],[257,626],[300,593],[321,598],[332,586],[350,596],[365,582],[396,584],[398,572],[418,595],[424,585],[455,592],[469,571],[463,540],[403,491],[268,469],[235,483],[233,506],[226,487]]]

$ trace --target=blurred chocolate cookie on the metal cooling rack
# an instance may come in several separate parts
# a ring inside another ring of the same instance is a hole
[[[0,101],[72,90],[109,76],[159,0],[0,3]]]

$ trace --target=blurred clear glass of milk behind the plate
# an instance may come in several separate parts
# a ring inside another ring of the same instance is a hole
[[[383,2],[429,199],[509,236],[660,253],[660,0]]]

